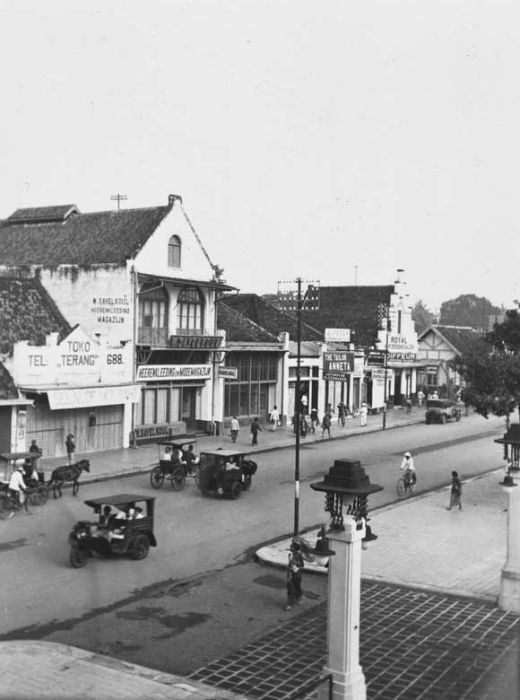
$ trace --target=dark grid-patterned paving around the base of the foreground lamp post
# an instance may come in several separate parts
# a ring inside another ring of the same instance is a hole
[[[520,620],[485,601],[363,582],[360,660],[370,700],[518,700]],[[326,605],[297,615],[192,680],[251,698],[305,692],[326,660]]]

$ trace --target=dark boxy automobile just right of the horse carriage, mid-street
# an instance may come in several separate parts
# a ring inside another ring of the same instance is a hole
[[[200,454],[199,489],[204,496],[235,499],[251,487],[257,464],[249,453],[238,450],[206,450]]]

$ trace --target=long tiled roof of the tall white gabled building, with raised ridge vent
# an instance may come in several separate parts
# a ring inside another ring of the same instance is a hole
[[[73,205],[21,209],[0,221],[0,263],[122,264],[136,256],[169,211],[168,206],[91,214],[75,213]]]

